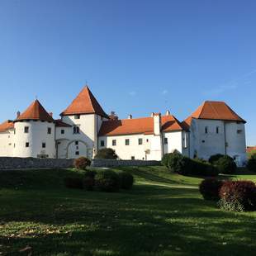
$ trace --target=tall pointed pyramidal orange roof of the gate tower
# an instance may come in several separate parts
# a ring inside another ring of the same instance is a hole
[[[67,107],[60,115],[69,116],[77,114],[97,114],[108,118],[88,86],[83,88],[69,107]]]

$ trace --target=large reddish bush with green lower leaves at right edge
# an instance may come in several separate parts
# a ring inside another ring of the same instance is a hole
[[[220,188],[220,208],[227,211],[256,210],[256,186],[251,181],[227,181]]]

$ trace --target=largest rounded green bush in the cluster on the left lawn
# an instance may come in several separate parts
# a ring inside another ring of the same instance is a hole
[[[117,192],[121,187],[119,175],[111,170],[98,170],[95,175],[95,187],[104,192]]]

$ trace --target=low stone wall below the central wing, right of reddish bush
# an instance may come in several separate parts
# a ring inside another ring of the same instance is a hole
[[[145,160],[115,160],[115,159],[93,159],[92,167],[121,167],[121,166],[152,166],[159,165],[159,161]]]

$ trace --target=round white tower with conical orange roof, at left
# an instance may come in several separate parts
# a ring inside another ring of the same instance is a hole
[[[15,157],[55,158],[55,121],[36,100],[14,121]]]

